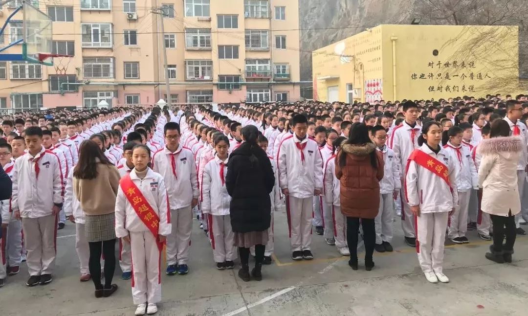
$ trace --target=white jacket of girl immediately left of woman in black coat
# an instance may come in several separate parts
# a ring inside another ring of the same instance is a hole
[[[223,168],[223,183],[220,178],[221,166]],[[205,164],[202,175],[202,212],[211,215],[229,215],[231,196],[225,188],[225,176],[228,173],[228,159],[221,161],[217,155]]]

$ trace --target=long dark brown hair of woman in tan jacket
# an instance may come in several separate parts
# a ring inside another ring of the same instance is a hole
[[[73,176],[77,179],[95,179],[97,163],[112,165],[96,142],[83,141],[79,146],[79,162],[73,169]]]

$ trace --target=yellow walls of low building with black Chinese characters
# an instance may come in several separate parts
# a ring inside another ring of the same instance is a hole
[[[355,100],[371,102],[514,94],[517,43],[516,26],[380,25],[313,53],[314,95],[327,101],[327,88],[338,85],[347,101],[347,83],[359,89]]]

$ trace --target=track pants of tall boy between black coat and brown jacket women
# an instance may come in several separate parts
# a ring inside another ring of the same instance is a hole
[[[286,196],[286,215],[291,251],[310,250],[312,244],[313,199]]]

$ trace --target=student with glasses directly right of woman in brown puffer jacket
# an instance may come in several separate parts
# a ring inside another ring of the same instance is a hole
[[[382,125],[376,125],[371,131],[372,142],[376,150],[383,155],[384,171],[380,181],[380,208],[374,219],[376,229],[377,252],[392,252],[394,200],[401,189],[401,176],[398,161],[391,148],[385,145],[387,133]]]

